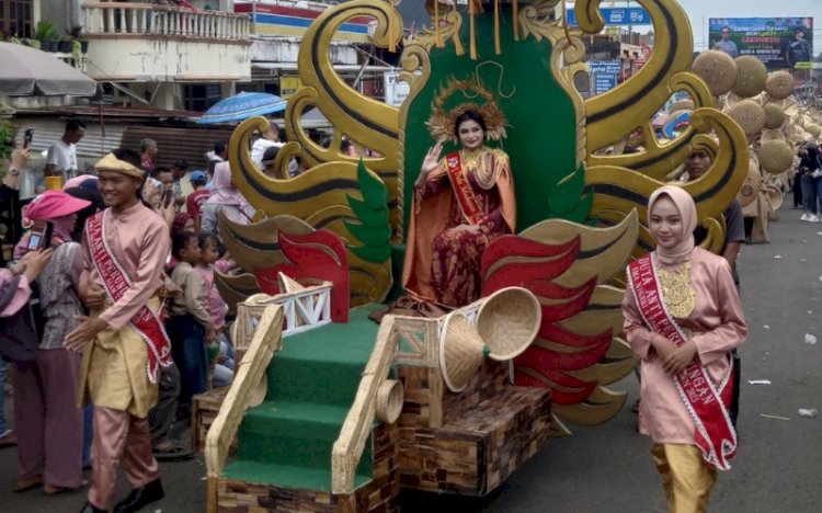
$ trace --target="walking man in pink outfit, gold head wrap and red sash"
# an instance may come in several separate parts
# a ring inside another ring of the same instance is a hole
[[[171,363],[158,317],[170,237],[162,218],[139,201],[144,171],[127,153],[115,151],[94,166],[107,208],[89,218],[83,233],[80,294],[92,315],[64,342],[84,350],[80,394],[94,404],[94,461],[82,513],[111,509],[118,466],[134,490],[114,512],[138,511],[163,497],[147,417],[160,367]]]

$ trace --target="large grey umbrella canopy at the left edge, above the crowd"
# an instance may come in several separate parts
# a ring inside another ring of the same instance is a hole
[[[57,57],[28,46],[0,43],[0,94],[91,96],[98,83]]]

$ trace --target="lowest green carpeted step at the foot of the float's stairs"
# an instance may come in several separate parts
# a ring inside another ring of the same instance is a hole
[[[282,488],[331,491],[330,465],[326,468],[311,468],[238,460],[226,467],[222,471],[222,477],[233,481],[275,485]],[[359,488],[368,481],[370,481],[370,477],[357,474],[354,477],[354,488]]]

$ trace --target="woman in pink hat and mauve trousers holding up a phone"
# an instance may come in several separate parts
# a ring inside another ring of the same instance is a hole
[[[37,278],[43,314],[37,356],[16,363],[14,419],[18,429],[16,491],[43,486],[46,493],[80,488],[82,483],[82,410],[77,407],[82,356],[64,349],[66,334],[84,315],[78,297],[82,252],[71,240],[77,212],[89,202],[64,191],[46,191],[23,209],[24,223],[50,223],[46,241],[54,256]],[[28,252],[30,235],[18,243],[15,256]]]

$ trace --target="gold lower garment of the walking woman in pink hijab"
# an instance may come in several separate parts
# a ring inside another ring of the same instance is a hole
[[[653,444],[651,456],[662,476],[669,513],[705,513],[717,482],[717,470],[708,465],[696,445]]]

